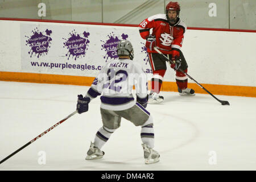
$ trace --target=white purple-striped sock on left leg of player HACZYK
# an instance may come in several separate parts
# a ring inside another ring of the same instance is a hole
[[[106,129],[106,127],[102,126],[98,132],[96,133],[95,139],[94,139],[94,145],[98,148],[102,148],[104,144],[108,141],[110,138],[110,135],[114,133],[114,130]]]

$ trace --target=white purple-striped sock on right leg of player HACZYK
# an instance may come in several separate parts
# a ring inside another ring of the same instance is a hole
[[[154,148],[154,127],[152,117],[150,116],[146,123],[141,126],[141,140],[150,148]]]

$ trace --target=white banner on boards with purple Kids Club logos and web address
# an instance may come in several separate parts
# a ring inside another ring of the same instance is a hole
[[[134,47],[134,61],[152,73],[137,27],[20,23],[22,70],[58,75],[96,76],[106,62],[117,59],[119,40]]]

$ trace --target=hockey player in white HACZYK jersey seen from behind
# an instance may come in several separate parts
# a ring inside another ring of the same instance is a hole
[[[141,140],[146,164],[159,162],[160,155],[154,148],[154,127],[150,113],[145,109],[148,101],[147,77],[141,65],[133,61],[133,46],[128,40],[121,40],[117,46],[119,59],[110,61],[93,81],[85,97],[78,96],[79,114],[88,111],[90,100],[100,96],[103,126],[97,131],[94,142],[85,159],[100,159],[104,156],[102,146],[118,129],[121,118],[135,126],[141,126]],[[135,85],[136,100],[133,97]]]

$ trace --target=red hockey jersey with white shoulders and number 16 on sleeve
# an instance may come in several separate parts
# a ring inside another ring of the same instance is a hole
[[[156,38],[156,48],[164,54],[170,54],[172,48],[180,49],[182,46],[184,33],[187,26],[180,19],[174,26],[170,26],[166,18],[166,14],[156,14],[143,20],[139,24],[139,34],[143,39],[146,39],[150,34],[152,28],[152,35]],[[155,52],[155,50],[148,52]]]

